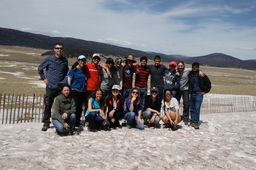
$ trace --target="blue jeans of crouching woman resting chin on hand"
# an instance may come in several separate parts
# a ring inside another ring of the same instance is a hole
[[[136,116],[134,112],[127,112],[125,113],[125,119],[126,121],[126,126],[131,128],[131,127],[136,127],[139,130],[144,130],[144,124],[140,124],[138,122],[138,117]]]

